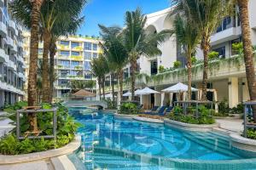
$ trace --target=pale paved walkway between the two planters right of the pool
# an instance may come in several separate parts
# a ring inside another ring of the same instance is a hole
[[[242,133],[243,125],[241,119],[216,119],[219,127],[234,133]]]

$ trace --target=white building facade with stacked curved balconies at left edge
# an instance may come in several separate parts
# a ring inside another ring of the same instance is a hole
[[[22,28],[9,13],[9,1],[0,1],[0,107],[23,99],[24,59]]]

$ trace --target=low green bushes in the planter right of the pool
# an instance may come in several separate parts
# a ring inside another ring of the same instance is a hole
[[[185,122],[190,124],[213,124],[215,121],[211,116],[211,110],[201,105],[198,108],[199,117],[195,117],[195,107],[189,108],[190,112],[187,115],[183,114],[183,109],[180,106],[175,106],[173,112],[168,115],[170,119],[178,122]]]

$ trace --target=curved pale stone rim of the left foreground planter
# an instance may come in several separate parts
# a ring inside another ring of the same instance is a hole
[[[38,161],[38,160],[49,159],[55,156],[67,155],[69,153],[72,153],[74,150],[79,149],[80,140],[81,140],[80,137],[77,136],[76,139],[73,140],[71,143],[67,144],[66,146],[63,146],[62,148],[58,148],[55,150],[46,150],[42,152],[34,152],[30,154],[21,154],[16,156],[0,155],[0,165],[20,163],[20,162],[26,162],[26,161]]]

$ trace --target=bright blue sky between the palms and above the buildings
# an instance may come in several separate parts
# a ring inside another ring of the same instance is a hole
[[[127,10],[140,7],[143,14],[149,14],[169,6],[170,0],[89,0],[83,11],[85,22],[78,33],[98,36],[98,24],[123,26]]]

